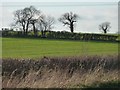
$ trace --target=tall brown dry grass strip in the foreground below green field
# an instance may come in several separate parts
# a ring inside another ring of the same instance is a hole
[[[3,88],[82,88],[120,81],[118,56],[3,60]],[[96,84],[97,85],[97,84]]]

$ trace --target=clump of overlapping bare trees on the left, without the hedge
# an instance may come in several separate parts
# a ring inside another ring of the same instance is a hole
[[[15,11],[14,17],[12,26],[23,30],[24,35],[28,35],[28,31],[31,30],[37,36],[38,29],[40,29],[44,36],[46,31],[52,29],[55,21],[53,17],[43,15],[34,6]]]

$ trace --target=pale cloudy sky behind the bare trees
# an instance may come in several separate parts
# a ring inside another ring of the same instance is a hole
[[[84,1],[84,2],[83,2]],[[118,0],[2,0],[0,4],[0,28],[10,27],[13,22],[13,12],[30,5],[35,6],[45,15],[50,15],[55,18],[54,31],[69,31],[68,27],[64,27],[58,18],[72,11],[79,15],[79,20],[75,26],[75,32],[84,33],[101,33],[98,26],[102,22],[110,22],[111,29],[109,33],[118,31]]]

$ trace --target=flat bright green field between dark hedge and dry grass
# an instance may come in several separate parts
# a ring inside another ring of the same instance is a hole
[[[118,44],[70,40],[2,38],[3,58],[117,54]]]

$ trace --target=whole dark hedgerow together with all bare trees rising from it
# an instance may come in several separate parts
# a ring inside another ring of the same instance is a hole
[[[118,36],[105,35],[111,28],[110,22],[104,22],[99,25],[99,30],[105,34],[87,34],[74,33],[74,26],[77,23],[79,16],[73,12],[62,14],[58,20],[63,23],[63,26],[68,26],[70,32],[66,31],[52,31],[55,24],[55,18],[43,14],[34,6],[25,7],[14,12],[14,22],[12,29],[2,29],[2,36],[15,37],[42,37],[49,39],[71,39],[71,40],[97,40],[97,41],[116,41]],[[18,31],[13,29],[19,28]]]

